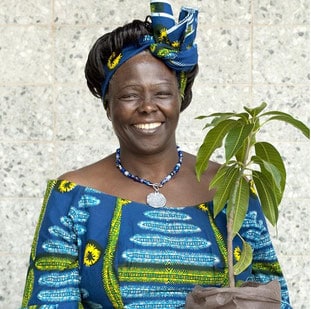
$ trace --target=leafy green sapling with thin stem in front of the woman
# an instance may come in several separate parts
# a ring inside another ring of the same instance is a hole
[[[252,248],[243,239],[241,257],[235,264],[233,259],[233,239],[240,236],[239,230],[247,213],[251,187],[255,188],[264,216],[275,226],[278,221],[278,206],[281,203],[286,183],[286,170],[278,150],[266,141],[258,141],[257,135],[264,125],[274,120],[294,126],[307,138],[310,135],[309,128],[301,121],[284,112],[265,111],[266,106],[267,104],[263,102],[255,108],[244,106],[244,111],[240,113],[213,113],[197,117],[198,119],[210,119],[204,127],[209,130],[197,153],[198,180],[208,168],[209,160],[215,150],[224,147],[225,163],[221,165],[212,179],[210,189],[216,189],[213,199],[214,217],[226,208],[228,282],[229,289],[232,291],[239,289],[236,287],[235,276],[243,272],[252,262]],[[208,288],[208,290],[211,289]],[[271,287],[268,287],[268,290],[271,291]],[[190,297],[193,295],[192,293]],[[211,304],[210,301],[209,304]],[[245,308],[250,308],[247,306],[249,303]],[[279,303],[276,307],[279,308]],[[190,301],[187,298],[186,308],[207,307],[196,307],[193,299]],[[209,305],[208,308],[217,308],[217,306]],[[240,305],[238,308],[244,307]],[[261,308],[270,307],[264,305]]]

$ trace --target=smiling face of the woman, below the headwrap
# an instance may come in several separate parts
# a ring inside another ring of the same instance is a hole
[[[149,52],[126,61],[112,77],[108,117],[120,146],[152,153],[172,146],[180,113],[175,72]]]

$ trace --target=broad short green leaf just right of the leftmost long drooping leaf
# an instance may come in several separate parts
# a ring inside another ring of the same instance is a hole
[[[242,147],[245,139],[251,135],[250,133],[252,132],[253,127],[253,124],[235,126],[228,132],[225,141],[226,161],[236,155],[238,150]]]

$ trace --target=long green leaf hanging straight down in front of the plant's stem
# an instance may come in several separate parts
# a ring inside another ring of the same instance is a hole
[[[235,187],[237,185],[237,187]],[[239,175],[236,183],[230,192],[227,208],[227,222],[232,223],[232,236],[234,237],[240,230],[246,216],[249,203],[249,183]]]

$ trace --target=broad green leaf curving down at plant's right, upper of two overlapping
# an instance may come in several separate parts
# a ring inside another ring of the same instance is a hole
[[[262,161],[269,162],[270,164],[274,165],[276,169],[278,170],[279,175],[271,173],[271,177],[273,178],[272,184],[273,182],[277,184],[279,181],[279,194],[276,197],[277,197],[278,203],[280,203],[282,200],[283,192],[285,190],[285,185],[286,185],[286,169],[283,163],[283,159],[280,153],[278,152],[278,150],[273,145],[267,142],[256,143],[255,153],[256,153],[256,156],[260,158]],[[267,164],[261,165],[261,170],[264,174],[267,174],[267,172],[269,172],[267,170]],[[280,179],[278,177],[280,177]]]

